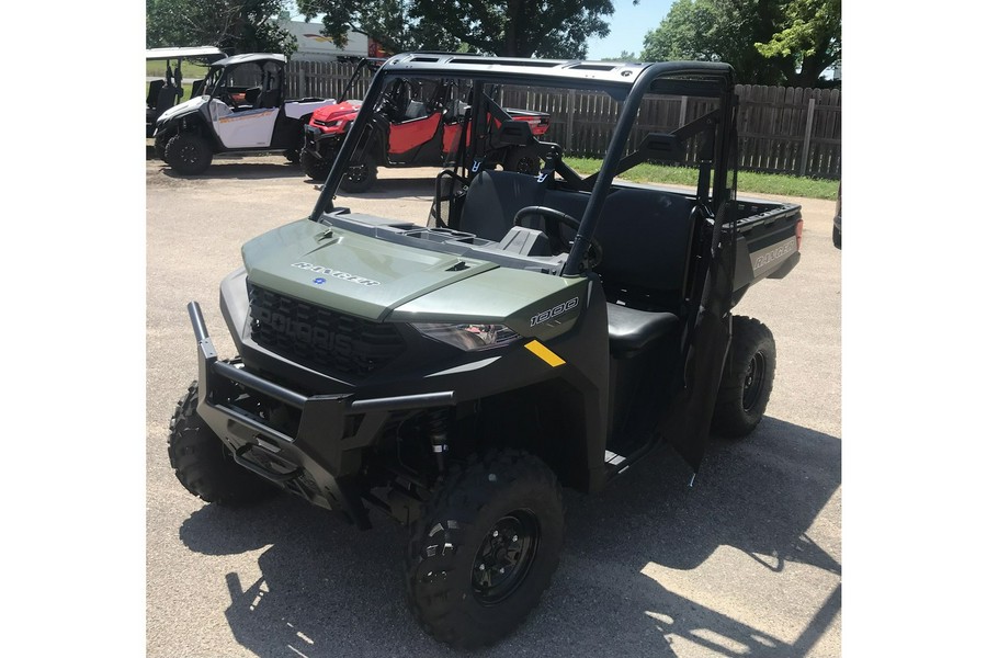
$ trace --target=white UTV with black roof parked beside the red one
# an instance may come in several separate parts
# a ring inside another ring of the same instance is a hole
[[[209,66],[192,98],[155,124],[155,155],[183,174],[198,174],[214,155],[283,152],[298,161],[303,128],[333,99],[285,100],[284,55],[232,55]]]

